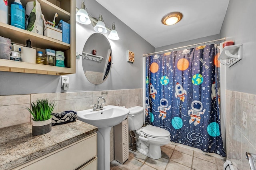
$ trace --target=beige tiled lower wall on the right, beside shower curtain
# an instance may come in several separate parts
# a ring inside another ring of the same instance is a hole
[[[227,160],[250,169],[246,152],[256,154],[256,95],[226,90]]]

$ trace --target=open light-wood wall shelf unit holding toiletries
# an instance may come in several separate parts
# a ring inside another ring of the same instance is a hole
[[[22,5],[26,7],[30,0],[21,0]],[[46,20],[52,21],[55,12],[58,13],[56,23],[63,20],[70,24],[70,44],[64,43],[53,38],[49,38],[34,32],[22,30],[14,26],[0,22],[0,36],[9,38],[11,42],[17,44],[26,44],[26,40],[30,39],[32,47],[37,51],[53,49],[55,51],[63,51],[65,55],[65,67],[56,67],[50,65],[42,65],[36,63],[26,63],[22,61],[12,61],[0,59],[0,71],[20,72],[20,73],[36,73],[47,75],[64,75],[76,73],[76,1],[74,0],[38,0],[40,3],[42,14]],[[8,6],[10,6],[10,1]]]

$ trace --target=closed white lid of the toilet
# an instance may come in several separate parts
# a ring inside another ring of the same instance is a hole
[[[146,127],[142,128],[142,132],[148,136],[156,138],[166,138],[170,136],[170,132],[168,132],[168,130],[151,125],[147,125]]]

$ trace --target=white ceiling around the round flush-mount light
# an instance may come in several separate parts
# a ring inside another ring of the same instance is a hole
[[[220,34],[229,0],[96,0],[154,47]],[[172,26],[162,17],[181,12]],[[116,26],[118,30],[118,26]]]

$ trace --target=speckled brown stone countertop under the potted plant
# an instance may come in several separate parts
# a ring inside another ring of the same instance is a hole
[[[76,121],[52,126],[46,134],[32,135],[32,123],[0,128],[0,169],[7,170],[75,142],[98,130]]]

